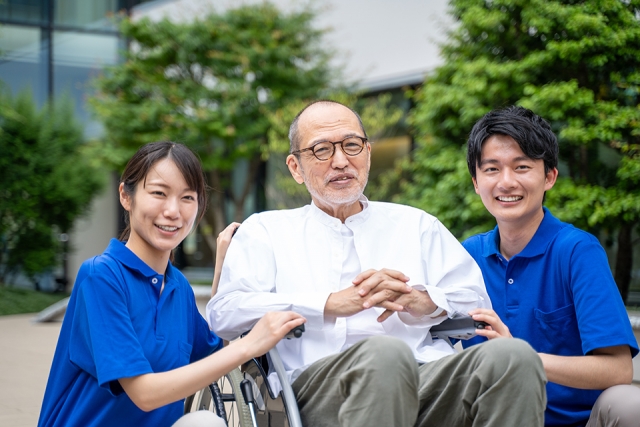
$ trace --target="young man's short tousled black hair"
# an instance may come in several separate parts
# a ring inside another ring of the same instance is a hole
[[[545,173],[558,166],[558,139],[551,125],[531,110],[511,106],[488,112],[471,129],[467,167],[473,178],[476,177],[476,166],[482,160],[482,144],[493,135],[510,136],[527,157],[542,159]]]

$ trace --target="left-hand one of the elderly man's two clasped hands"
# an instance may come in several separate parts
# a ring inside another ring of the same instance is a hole
[[[324,314],[331,317],[348,317],[371,307],[401,311],[404,307],[396,304],[394,300],[411,292],[408,281],[409,278],[399,271],[367,270],[356,276],[353,280],[354,286],[329,295]]]

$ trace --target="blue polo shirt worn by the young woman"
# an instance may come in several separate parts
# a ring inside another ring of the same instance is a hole
[[[169,371],[221,347],[180,271],[169,263],[163,278],[112,239],[78,272],[38,426],[170,426],[183,401],[143,412],[118,379]]]

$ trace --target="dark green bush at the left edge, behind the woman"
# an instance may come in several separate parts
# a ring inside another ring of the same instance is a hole
[[[38,111],[29,92],[0,91],[0,283],[19,271],[35,282],[64,256],[60,236],[103,186],[85,149],[68,99]]]

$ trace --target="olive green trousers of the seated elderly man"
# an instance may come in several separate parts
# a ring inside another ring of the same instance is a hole
[[[544,425],[546,376],[526,342],[496,339],[419,366],[411,349],[371,337],[292,384],[306,427]]]

